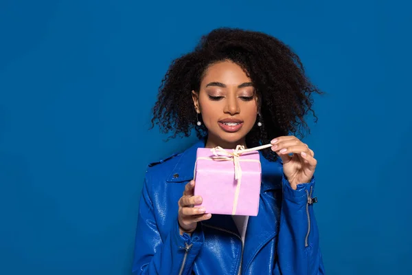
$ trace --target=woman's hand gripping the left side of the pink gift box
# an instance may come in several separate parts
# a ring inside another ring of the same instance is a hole
[[[180,234],[192,234],[196,229],[198,221],[210,219],[211,214],[205,214],[205,208],[195,207],[202,203],[202,197],[194,197],[194,180],[185,186],[183,196],[179,199],[179,229]]]

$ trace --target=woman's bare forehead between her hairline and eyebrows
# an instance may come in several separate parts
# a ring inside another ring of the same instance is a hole
[[[214,63],[207,67],[202,83],[220,82],[225,85],[240,85],[251,82],[242,67],[231,61]]]

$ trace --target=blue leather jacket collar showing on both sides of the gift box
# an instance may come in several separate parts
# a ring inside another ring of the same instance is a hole
[[[196,152],[198,148],[205,148],[205,139],[198,140],[190,148],[187,148],[183,153],[177,155],[179,157],[178,162],[168,175],[166,181],[168,182],[183,182],[190,181],[194,176],[194,164],[196,162]],[[269,162],[264,158],[262,152],[260,153],[260,164],[262,166],[262,191],[268,192],[271,190],[278,190],[282,188],[281,185],[275,183],[281,183],[277,177],[282,175],[282,160],[278,158],[275,162]],[[273,177],[276,177],[274,180]]]

